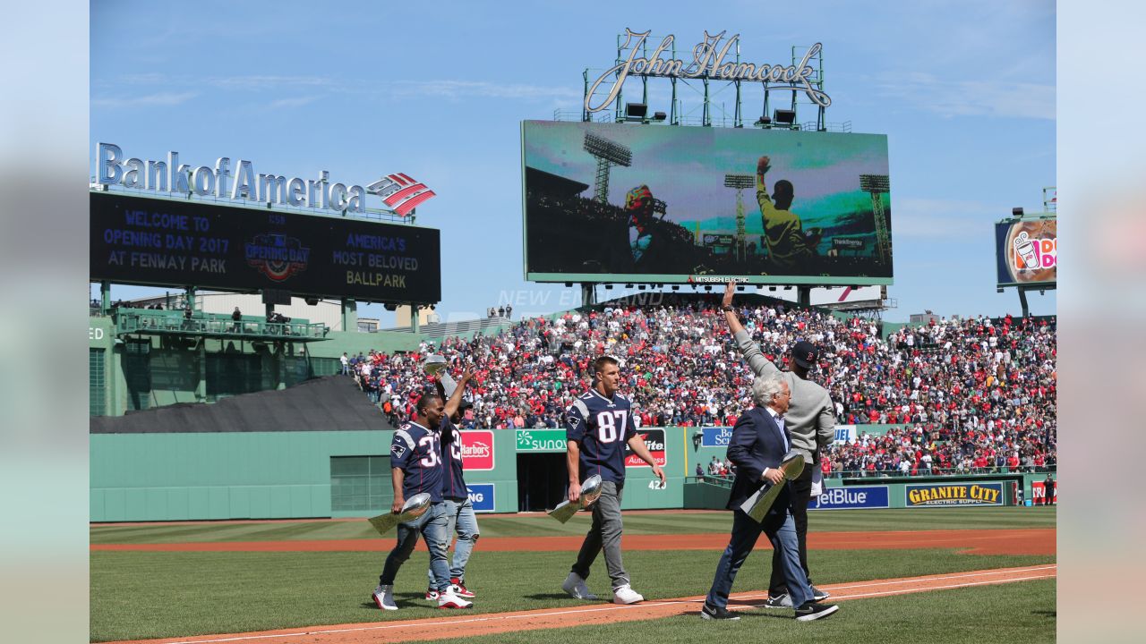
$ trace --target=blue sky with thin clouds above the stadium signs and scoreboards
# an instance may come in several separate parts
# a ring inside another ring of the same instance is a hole
[[[582,71],[611,66],[626,28],[673,33],[683,49],[705,29],[727,30],[740,34],[743,60],[762,63],[818,41],[827,120],[888,136],[898,308],[885,319],[1018,313],[1014,292],[995,292],[992,222],[1012,206],[1041,210],[1055,183],[1054,21],[1052,2],[1025,0],[809,1],[791,13],[760,2],[95,2],[92,167],[104,141],[142,158],[228,156],[362,184],[405,172],[438,194],[418,223],[442,230],[444,317],[507,300],[551,312],[579,294],[523,278],[520,121],[579,110]],[[667,111],[667,81],[650,87],[650,110]],[[759,112],[759,93],[746,95],[746,113]],[[1054,306],[1053,292],[1031,297],[1034,313]],[[392,321],[380,306],[371,314]]]

